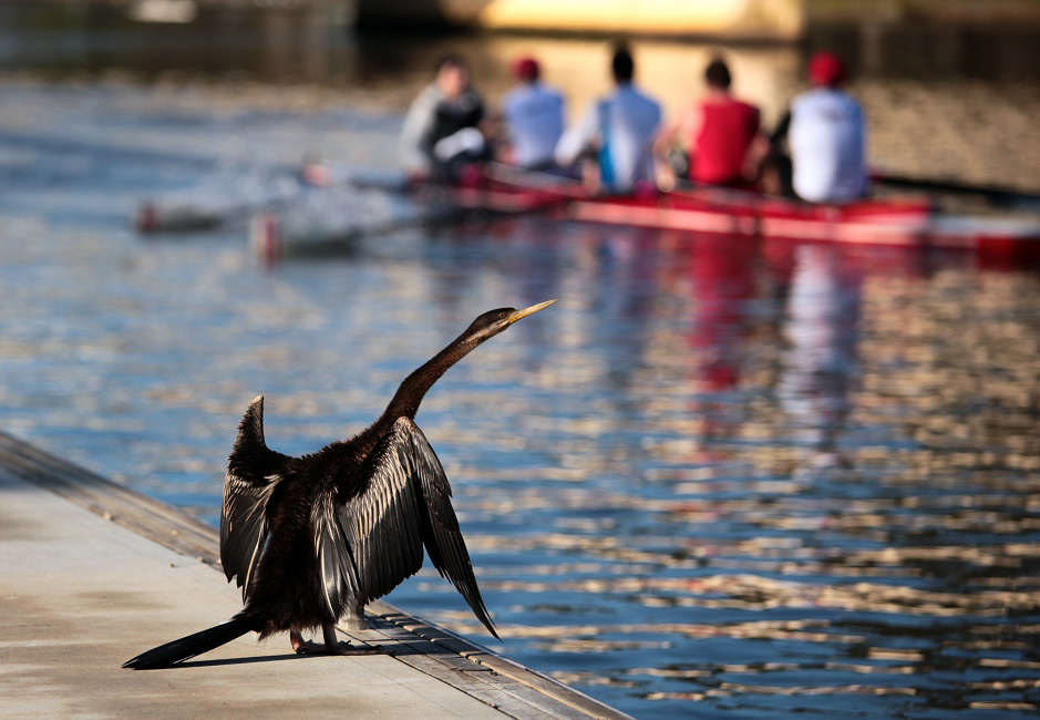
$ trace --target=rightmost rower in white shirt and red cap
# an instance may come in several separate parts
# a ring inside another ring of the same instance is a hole
[[[794,192],[813,203],[842,203],[869,189],[866,173],[863,109],[842,90],[845,69],[832,52],[809,61],[811,90],[791,103]]]

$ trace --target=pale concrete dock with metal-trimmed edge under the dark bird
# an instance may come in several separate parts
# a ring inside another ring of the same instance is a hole
[[[373,629],[340,632],[394,657],[301,657],[287,637],[245,637],[174,669],[123,670],[241,607],[217,531],[3,433],[0,497],[0,717],[628,717],[385,603],[368,608]]]

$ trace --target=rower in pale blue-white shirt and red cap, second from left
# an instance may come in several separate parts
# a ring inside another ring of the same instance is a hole
[[[531,169],[553,166],[553,153],[564,132],[564,96],[540,82],[534,58],[519,58],[513,74],[521,84],[502,97],[502,117],[508,137],[506,162]]]

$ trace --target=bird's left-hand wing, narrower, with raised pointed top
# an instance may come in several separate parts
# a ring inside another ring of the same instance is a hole
[[[237,578],[243,598],[267,537],[267,501],[289,457],[264,442],[264,397],[254,400],[238,428],[228,457],[220,508],[220,564],[227,579]]]

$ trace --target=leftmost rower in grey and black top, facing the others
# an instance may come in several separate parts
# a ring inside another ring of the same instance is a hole
[[[468,65],[459,55],[445,55],[404,119],[401,148],[409,173],[452,178],[465,163],[485,160],[483,121],[484,102],[470,86]]]

